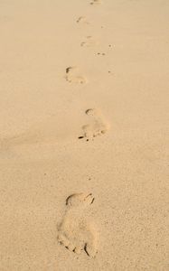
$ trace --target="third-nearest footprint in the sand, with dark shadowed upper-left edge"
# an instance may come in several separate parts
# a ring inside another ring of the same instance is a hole
[[[65,79],[70,83],[85,84],[87,79],[82,76],[77,67],[68,67],[66,69]]]

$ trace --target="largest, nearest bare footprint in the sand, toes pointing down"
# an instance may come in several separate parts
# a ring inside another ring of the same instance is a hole
[[[98,234],[95,225],[88,220],[89,207],[94,201],[91,193],[77,193],[66,200],[66,212],[59,226],[59,242],[70,251],[89,257],[98,252]]]

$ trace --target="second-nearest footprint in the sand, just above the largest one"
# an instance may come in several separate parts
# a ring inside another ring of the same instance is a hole
[[[89,139],[107,133],[109,125],[97,109],[90,108],[85,113],[90,117],[91,122],[81,127],[82,135],[79,136],[79,139],[86,138],[89,141]]]

